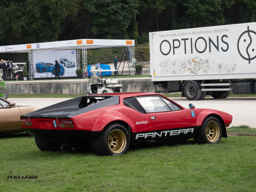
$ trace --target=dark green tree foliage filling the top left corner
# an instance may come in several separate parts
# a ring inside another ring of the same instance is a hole
[[[76,15],[80,0],[0,1],[0,39],[8,44],[57,41],[67,15]]]

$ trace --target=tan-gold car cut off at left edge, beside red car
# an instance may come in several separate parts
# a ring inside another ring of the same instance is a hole
[[[0,133],[18,133],[25,130],[20,126],[20,116],[39,107],[17,106],[0,97]]]

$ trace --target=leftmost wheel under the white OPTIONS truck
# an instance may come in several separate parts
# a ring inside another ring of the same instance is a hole
[[[202,97],[202,91],[199,89],[200,85],[196,81],[190,81],[184,86],[184,94],[188,100],[199,100]]]

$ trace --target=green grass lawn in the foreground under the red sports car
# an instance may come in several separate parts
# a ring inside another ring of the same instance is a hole
[[[256,138],[132,147],[121,156],[42,152],[25,133],[0,136],[0,191],[255,191]],[[7,176],[34,175],[14,181]]]

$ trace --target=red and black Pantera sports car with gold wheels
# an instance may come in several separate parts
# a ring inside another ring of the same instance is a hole
[[[185,109],[156,93],[112,93],[60,102],[23,115],[20,122],[42,151],[90,145],[97,155],[121,155],[142,140],[219,143],[227,138],[232,116],[192,104]]]

